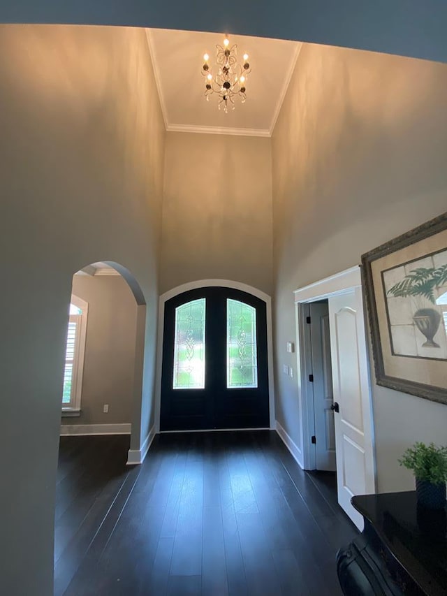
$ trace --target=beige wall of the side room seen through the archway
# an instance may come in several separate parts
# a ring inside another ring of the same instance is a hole
[[[120,275],[75,275],[72,291],[89,305],[81,414],[63,417],[62,424],[131,423],[137,316],[133,293]]]

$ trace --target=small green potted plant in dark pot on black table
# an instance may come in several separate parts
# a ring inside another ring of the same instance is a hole
[[[442,509],[446,504],[447,446],[416,442],[398,461],[413,471],[418,504]]]

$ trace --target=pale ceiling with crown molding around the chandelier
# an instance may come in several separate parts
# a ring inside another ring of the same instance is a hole
[[[270,136],[281,108],[301,44],[294,41],[230,35],[237,56],[247,52],[251,74],[247,101],[235,100],[228,114],[218,98],[204,96],[203,54],[210,55],[215,72],[216,45],[223,34],[147,29],[161,109],[168,131]]]

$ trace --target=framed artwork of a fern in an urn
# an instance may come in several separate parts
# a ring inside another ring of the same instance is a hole
[[[447,403],[447,213],[362,255],[379,385]]]

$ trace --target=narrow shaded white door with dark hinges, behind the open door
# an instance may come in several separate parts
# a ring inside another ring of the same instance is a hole
[[[328,302],[311,303],[316,469],[335,472],[335,428]]]

